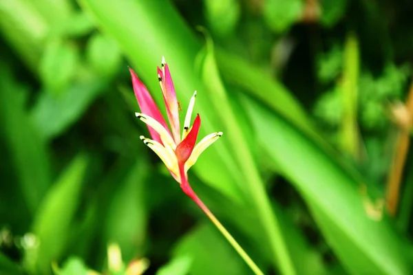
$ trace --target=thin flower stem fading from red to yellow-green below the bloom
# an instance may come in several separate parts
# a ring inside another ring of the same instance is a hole
[[[253,270],[253,272],[256,275],[264,275],[264,273],[260,270],[260,267],[258,267],[254,261],[246,254],[245,250],[242,249],[241,245],[235,241],[233,236],[224,228],[224,225],[218,221],[217,217],[215,217],[214,214],[212,214],[211,210],[207,208],[207,206],[200,200],[200,198],[195,195],[194,192],[192,192],[191,195],[189,195],[193,201],[201,208],[202,211],[204,211],[205,214],[209,217],[209,219],[212,221],[212,223],[220,230],[220,232],[224,235],[226,240],[231,243],[233,248],[240,254],[241,258],[245,261],[245,263]]]

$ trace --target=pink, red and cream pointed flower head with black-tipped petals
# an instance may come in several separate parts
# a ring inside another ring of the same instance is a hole
[[[189,186],[187,172],[189,168],[195,164],[200,154],[222,136],[222,132],[211,133],[195,145],[201,126],[199,114],[196,115],[192,126],[190,125],[193,106],[195,104],[195,91],[189,101],[182,135],[180,134],[180,107],[176,98],[176,91],[173,87],[169,67],[167,63],[165,63],[165,58],[162,57],[161,68],[158,67],[158,80],[171,129],[169,129],[167,122],[153,101],[147,87],[143,85],[132,69],[129,69],[129,71],[131,72],[136,100],[141,111],[135,114],[142,122],[147,124],[152,137],[152,139],[149,139],[141,135],[140,139],[160,157],[173,178],[180,183],[182,190],[184,190],[189,197],[194,197],[195,194],[193,194]]]

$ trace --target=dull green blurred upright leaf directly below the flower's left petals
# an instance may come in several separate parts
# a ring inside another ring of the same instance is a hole
[[[126,262],[134,259],[137,254],[142,254],[146,241],[147,173],[147,163],[142,157],[138,157],[129,175],[114,192],[106,214],[106,243],[118,243]]]

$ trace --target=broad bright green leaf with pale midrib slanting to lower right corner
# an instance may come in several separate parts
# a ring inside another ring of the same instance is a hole
[[[358,191],[366,180],[350,175],[293,125],[258,104],[245,102],[258,140],[304,197],[348,272],[407,274],[412,267],[408,255],[412,246],[388,219],[368,217],[363,204],[366,197]]]

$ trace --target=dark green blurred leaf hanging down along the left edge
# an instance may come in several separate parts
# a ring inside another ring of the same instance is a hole
[[[33,213],[50,185],[47,145],[25,110],[27,91],[1,63],[0,76],[0,125],[25,203]]]

